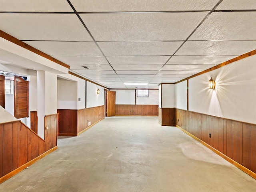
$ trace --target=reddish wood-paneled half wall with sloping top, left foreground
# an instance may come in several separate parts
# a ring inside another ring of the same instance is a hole
[[[57,114],[45,117],[45,139],[21,121],[0,124],[0,183],[57,149]]]

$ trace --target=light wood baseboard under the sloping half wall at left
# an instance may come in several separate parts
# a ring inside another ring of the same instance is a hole
[[[19,172],[21,172],[22,170],[26,169],[28,166],[34,164],[35,162],[37,162],[38,160],[44,158],[46,155],[50,154],[51,152],[55,151],[58,148],[58,146],[55,146],[53,148],[51,148],[50,150],[44,152],[43,154],[39,155],[38,157],[32,159],[31,161],[27,162],[26,164],[16,168],[15,170],[13,170],[12,172],[2,176],[0,178],[0,184],[6,180],[8,180],[9,178],[11,178],[12,176],[18,174]]]

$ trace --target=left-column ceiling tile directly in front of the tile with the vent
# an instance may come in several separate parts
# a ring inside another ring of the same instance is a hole
[[[92,56],[54,56],[55,59],[58,59],[64,63],[70,65],[109,65],[108,61],[104,57],[92,57]]]

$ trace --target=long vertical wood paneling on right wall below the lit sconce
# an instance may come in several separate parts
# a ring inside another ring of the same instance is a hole
[[[256,173],[256,125],[181,109],[176,125]]]

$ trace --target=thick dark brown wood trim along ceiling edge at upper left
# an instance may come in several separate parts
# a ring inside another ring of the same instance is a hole
[[[61,62],[61,61],[51,57],[50,55],[47,55],[46,53],[44,53],[42,51],[39,51],[36,48],[33,48],[32,46],[30,46],[30,45],[28,45],[28,44],[18,40],[17,38],[14,38],[13,36],[7,34],[6,32],[3,32],[2,30],[0,30],[0,37],[8,40],[9,42],[12,42],[12,43],[20,46],[22,48],[25,48],[25,49],[27,49],[29,51],[32,51],[33,53],[36,53],[36,54],[38,54],[38,55],[40,55],[40,56],[42,56],[42,57],[44,57],[46,59],[49,59],[50,61],[53,61],[54,63],[57,63],[59,65],[62,65],[63,67],[66,67],[66,68],[70,69],[70,66],[67,65],[66,63],[63,63],[63,62]]]

